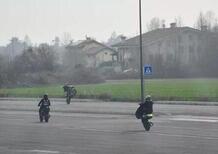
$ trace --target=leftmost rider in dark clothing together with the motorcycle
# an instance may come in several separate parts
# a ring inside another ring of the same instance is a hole
[[[39,102],[38,106],[39,108],[39,118],[40,118],[40,122],[43,121],[43,118],[45,118],[45,121],[48,122],[48,119],[50,117],[49,115],[49,111],[50,111],[50,100],[48,99],[48,95],[45,94],[43,96],[43,99],[41,99],[41,101]]]

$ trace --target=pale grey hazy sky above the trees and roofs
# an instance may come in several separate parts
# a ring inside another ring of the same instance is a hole
[[[181,16],[193,26],[200,11],[218,16],[218,0],[142,0],[143,27],[153,17],[173,22]],[[106,41],[111,33],[138,34],[138,0],[0,0],[0,45],[28,35],[33,43],[48,42],[64,32],[74,40]]]

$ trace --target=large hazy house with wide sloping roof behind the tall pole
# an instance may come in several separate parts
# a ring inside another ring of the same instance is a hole
[[[190,66],[205,52],[207,27],[201,30],[190,27],[160,28],[142,34],[143,62],[152,64],[159,73],[163,67]],[[118,61],[122,69],[139,68],[139,36],[113,45],[118,51]]]

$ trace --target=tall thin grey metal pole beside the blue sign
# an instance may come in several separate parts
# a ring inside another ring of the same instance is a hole
[[[144,77],[143,77],[143,54],[142,54],[142,4],[139,0],[139,29],[140,29],[140,72],[141,72],[141,103],[144,102]]]

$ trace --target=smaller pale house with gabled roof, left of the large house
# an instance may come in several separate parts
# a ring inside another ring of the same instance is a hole
[[[85,65],[90,68],[113,66],[117,64],[117,52],[94,39],[86,38],[78,44],[66,47],[68,52],[74,54],[74,65]]]

